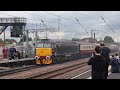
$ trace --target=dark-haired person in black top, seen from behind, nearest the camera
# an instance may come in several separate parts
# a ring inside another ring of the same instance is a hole
[[[91,57],[88,65],[92,65],[92,79],[106,79],[106,60],[101,56],[101,47],[95,47],[95,56]]]

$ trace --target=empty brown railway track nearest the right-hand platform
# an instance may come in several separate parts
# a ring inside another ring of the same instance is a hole
[[[75,69],[81,68],[85,65],[87,65],[87,62],[76,64],[76,65],[73,65],[73,66],[64,67],[64,68],[57,69],[57,70],[54,70],[54,71],[50,71],[50,72],[43,73],[43,74],[38,74],[38,75],[35,75],[35,76],[28,77],[26,79],[50,79],[50,78],[65,74],[67,72],[73,71]]]

